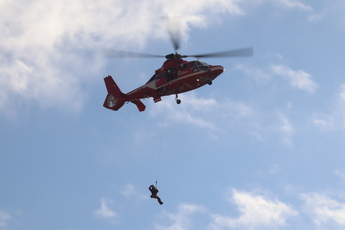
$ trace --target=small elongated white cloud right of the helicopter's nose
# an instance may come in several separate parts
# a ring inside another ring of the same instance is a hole
[[[273,74],[287,79],[293,88],[305,90],[309,93],[314,93],[317,84],[311,79],[311,75],[303,70],[292,70],[284,65],[271,65]]]

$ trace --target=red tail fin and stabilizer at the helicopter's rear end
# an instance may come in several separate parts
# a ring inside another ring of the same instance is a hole
[[[111,110],[119,110],[126,101],[134,103],[139,111],[144,111],[146,106],[139,99],[128,100],[127,95],[122,93],[120,88],[116,85],[114,79],[109,75],[104,78],[105,86],[107,87],[108,95],[105,98],[103,106]]]

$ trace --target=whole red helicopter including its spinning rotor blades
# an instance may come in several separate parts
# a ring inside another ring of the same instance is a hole
[[[170,37],[175,48],[175,53],[166,56],[134,53],[118,50],[104,50],[104,54],[109,58],[119,57],[138,57],[155,58],[165,57],[167,60],[162,67],[155,71],[155,74],[148,82],[128,93],[121,92],[114,79],[109,75],[104,78],[108,91],[103,106],[114,111],[119,110],[125,102],[134,103],[140,112],[144,111],[146,106],[140,99],[152,97],[154,102],[161,101],[162,96],[176,95],[176,103],[181,100],[178,94],[197,89],[206,84],[211,85],[212,81],[224,72],[221,65],[208,65],[199,61],[204,57],[248,57],[253,55],[253,48],[242,48],[217,53],[180,55],[177,50],[180,47],[179,36],[170,33]],[[195,61],[185,61],[182,58],[194,57]]]

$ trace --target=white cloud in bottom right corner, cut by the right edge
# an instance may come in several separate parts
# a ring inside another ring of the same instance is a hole
[[[331,199],[327,196],[312,193],[303,194],[306,211],[317,225],[336,223],[345,227],[345,203]]]

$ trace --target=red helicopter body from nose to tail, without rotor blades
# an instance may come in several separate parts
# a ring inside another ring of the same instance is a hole
[[[144,111],[145,105],[140,99],[152,97],[154,102],[159,102],[162,96],[173,94],[176,95],[176,102],[179,104],[181,100],[178,99],[178,94],[205,84],[211,85],[212,81],[223,72],[224,67],[221,65],[208,65],[199,60],[188,62],[174,57],[165,61],[146,84],[126,94],[120,91],[111,76],[106,77],[104,80],[108,95],[103,106],[118,110],[129,101],[136,104],[139,111]]]

